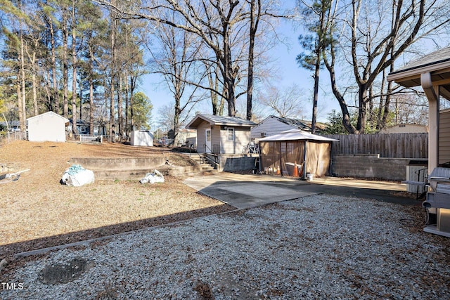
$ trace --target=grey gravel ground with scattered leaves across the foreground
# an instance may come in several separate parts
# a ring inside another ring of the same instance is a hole
[[[422,225],[419,207],[302,197],[51,252],[0,274],[0,299],[449,299],[449,239]]]

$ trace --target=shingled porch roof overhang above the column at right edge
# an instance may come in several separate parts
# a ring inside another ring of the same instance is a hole
[[[420,86],[420,75],[430,73],[433,83],[439,83],[440,94],[450,99],[450,47],[432,52],[423,58],[399,68],[387,76],[387,80],[394,80],[406,87]]]

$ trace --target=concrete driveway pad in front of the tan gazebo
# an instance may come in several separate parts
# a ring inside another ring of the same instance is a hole
[[[353,178],[315,178],[300,181],[268,175],[241,175],[226,172],[209,176],[193,176],[184,183],[199,193],[230,204],[237,209],[293,200],[326,193],[346,197],[362,197],[397,204],[420,204],[405,197],[406,185],[385,181],[364,181]]]

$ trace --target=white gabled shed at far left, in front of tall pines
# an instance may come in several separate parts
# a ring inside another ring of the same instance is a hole
[[[32,142],[65,142],[65,126],[69,119],[55,112],[30,117],[28,122],[28,141]]]

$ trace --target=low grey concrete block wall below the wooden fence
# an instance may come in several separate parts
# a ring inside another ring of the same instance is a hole
[[[331,174],[338,177],[383,178],[390,181],[406,180],[409,158],[387,158],[378,154],[333,155]]]

